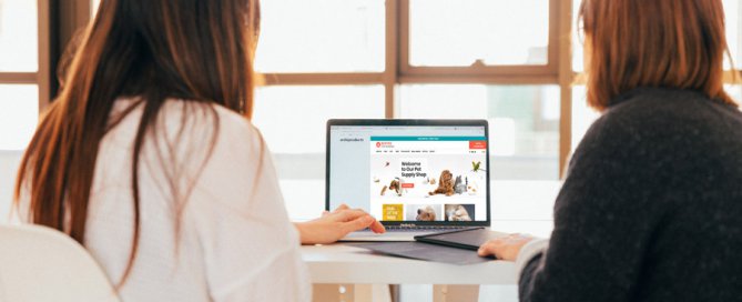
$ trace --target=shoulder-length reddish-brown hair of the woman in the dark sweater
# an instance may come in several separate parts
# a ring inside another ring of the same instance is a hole
[[[721,0],[583,0],[580,22],[593,108],[638,87],[697,90],[736,105],[723,89],[731,56]]]

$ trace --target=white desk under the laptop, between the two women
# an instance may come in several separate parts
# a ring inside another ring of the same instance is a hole
[[[302,246],[314,301],[389,302],[388,284],[435,284],[433,301],[479,301],[481,284],[516,284],[515,264],[490,261],[454,265],[373,254],[344,244]]]

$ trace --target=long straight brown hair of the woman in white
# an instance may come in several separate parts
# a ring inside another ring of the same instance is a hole
[[[136,175],[145,134],[167,99],[252,115],[258,20],[257,0],[102,1],[23,155],[16,205],[28,194],[30,222],[83,243],[99,143],[116,122],[110,112],[119,98],[143,100],[131,175],[134,239],[121,286],[139,246]]]

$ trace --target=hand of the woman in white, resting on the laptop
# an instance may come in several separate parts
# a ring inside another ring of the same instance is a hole
[[[375,233],[386,229],[375,218],[363,210],[352,210],[343,204],[332,212],[324,212],[322,218],[294,223],[302,239],[302,244],[326,244],[338,241],[350,232],[369,228]]]

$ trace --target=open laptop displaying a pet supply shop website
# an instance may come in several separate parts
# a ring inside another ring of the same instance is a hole
[[[345,203],[387,229],[340,241],[490,226],[486,120],[329,120],[326,154],[326,210]]]

